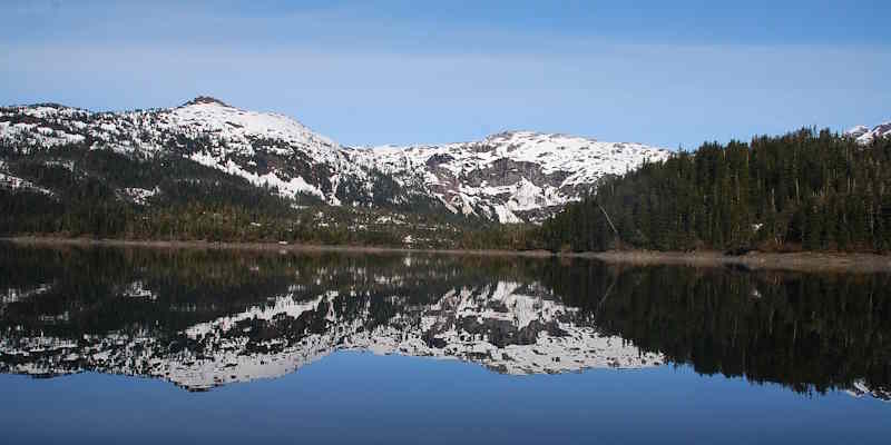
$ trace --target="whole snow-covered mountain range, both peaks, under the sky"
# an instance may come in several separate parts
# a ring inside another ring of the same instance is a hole
[[[525,131],[439,146],[341,147],[277,113],[198,97],[170,109],[91,112],[59,105],[0,108],[0,155],[51,148],[178,156],[296,200],[412,208],[419,202],[501,222],[538,220],[664,149]],[[0,168],[7,188],[33,186]],[[47,190],[51,194],[52,190]],[[148,205],[157,185],[119,190]]]

